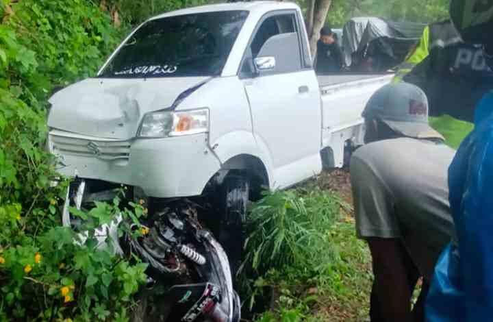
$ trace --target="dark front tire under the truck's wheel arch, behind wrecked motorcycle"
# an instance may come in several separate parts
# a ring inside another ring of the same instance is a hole
[[[227,253],[233,280],[243,258],[249,190],[247,176],[233,173],[225,177],[216,195],[214,234]]]

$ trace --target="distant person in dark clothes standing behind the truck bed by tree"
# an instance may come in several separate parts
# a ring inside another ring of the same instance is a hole
[[[337,73],[342,70],[342,51],[337,36],[329,27],[320,30],[317,42],[315,71],[317,74]]]

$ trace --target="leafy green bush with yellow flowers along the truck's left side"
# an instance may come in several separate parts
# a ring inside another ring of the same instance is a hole
[[[94,227],[121,212],[100,204],[87,240],[60,227],[66,182],[45,151],[47,97],[94,75],[119,41],[110,17],[85,0],[0,1],[0,321],[127,321],[142,264],[97,249]],[[144,212],[127,206],[127,217]]]

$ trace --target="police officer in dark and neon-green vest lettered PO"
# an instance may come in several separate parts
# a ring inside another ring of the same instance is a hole
[[[481,45],[464,42],[450,20],[432,23],[394,82],[425,91],[435,129],[455,148],[472,130],[475,106],[493,85]]]

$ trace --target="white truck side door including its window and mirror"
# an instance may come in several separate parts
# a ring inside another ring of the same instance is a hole
[[[320,93],[296,16],[294,10],[264,16],[240,71],[253,132],[267,146],[280,188],[320,171]]]

